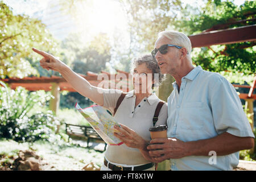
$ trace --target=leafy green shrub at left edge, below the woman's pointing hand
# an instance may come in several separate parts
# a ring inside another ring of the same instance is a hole
[[[0,84],[0,137],[16,142],[56,140],[57,118],[52,111],[43,110],[51,94],[28,92],[22,87],[11,90],[4,82]]]

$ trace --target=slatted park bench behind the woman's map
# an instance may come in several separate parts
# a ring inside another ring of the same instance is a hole
[[[90,139],[99,139],[102,140],[100,135],[94,131],[94,129],[90,126],[80,126],[80,125],[71,125],[68,123],[65,123],[66,125],[66,133],[68,136],[75,136],[75,137],[81,137],[87,139],[87,147],[89,147]],[[102,140],[103,141],[103,140]],[[69,137],[68,137],[69,142]],[[106,150],[107,144],[105,143],[104,151]]]

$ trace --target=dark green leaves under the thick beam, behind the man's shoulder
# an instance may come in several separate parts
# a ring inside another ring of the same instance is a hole
[[[192,60],[207,71],[221,73],[230,82],[251,84],[256,72],[255,51],[253,47],[241,48],[243,45],[246,43],[193,48]]]

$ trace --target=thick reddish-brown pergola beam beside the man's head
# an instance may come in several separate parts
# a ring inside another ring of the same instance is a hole
[[[250,26],[228,28],[191,35],[192,47],[208,47],[220,44],[233,44],[238,42],[256,40],[256,24]]]

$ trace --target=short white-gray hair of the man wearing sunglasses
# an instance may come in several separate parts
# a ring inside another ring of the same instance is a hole
[[[171,44],[175,44],[176,46],[185,47],[187,49],[187,53],[189,58],[191,59],[191,41],[188,38],[187,35],[183,34],[182,32],[177,31],[162,31],[159,32],[158,38],[161,38],[162,36],[165,36],[167,39],[170,40]]]

